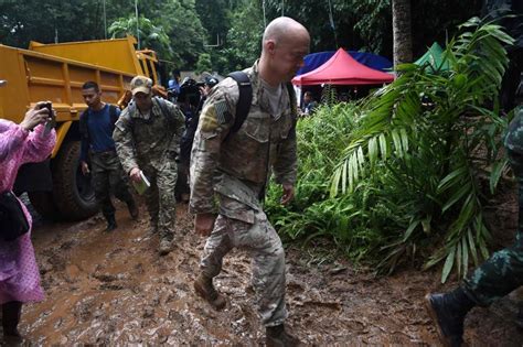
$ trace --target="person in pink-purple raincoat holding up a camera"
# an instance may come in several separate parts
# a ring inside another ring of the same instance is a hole
[[[12,191],[17,172],[24,163],[41,162],[56,142],[53,130],[45,131],[49,110],[45,102],[31,108],[20,124],[0,119],[0,193]],[[39,268],[31,243],[32,218],[21,204],[30,229],[13,241],[0,238],[0,304],[6,343],[21,341],[18,324],[22,303],[44,299]]]

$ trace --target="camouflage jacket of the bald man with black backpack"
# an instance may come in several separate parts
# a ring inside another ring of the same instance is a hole
[[[264,88],[257,63],[244,72],[252,82],[253,101],[242,128],[230,131],[239,98],[232,78],[212,89],[200,116],[191,153],[190,210],[194,214],[214,212],[214,189],[222,214],[249,221],[253,216],[245,216],[239,205],[260,209],[258,195],[270,172],[279,184],[296,182],[296,117],[287,88],[281,85],[278,111],[269,115],[268,105],[260,101]]]

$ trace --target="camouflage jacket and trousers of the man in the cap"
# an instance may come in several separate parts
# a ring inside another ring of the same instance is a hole
[[[159,102],[164,102],[163,115]],[[116,150],[126,173],[139,167],[151,183],[146,191],[146,204],[151,226],[160,239],[173,239],[175,223],[174,185],[180,138],[185,128],[178,106],[152,98],[152,109],[146,117],[130,104],[116,122],[113,134]]]

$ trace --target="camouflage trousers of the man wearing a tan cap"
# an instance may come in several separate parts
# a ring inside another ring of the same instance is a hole
[[[156,170],[151,165],[143,165],[140,169],[151,183],[150,188],[145,193],[151,226],[158,229],[160,239],[172,241],[177,221],[177,199],[174,197],[178,176],[177,163],[174,161],[166,162],[161,170]]]

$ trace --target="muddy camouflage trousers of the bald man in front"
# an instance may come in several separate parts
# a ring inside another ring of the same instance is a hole
[[[234,247],[246,249],[253,258],[252,282],[263,324],[282,324],[287,317],[285,251],[264,212],[255,214],[254,224],[218,215],[200,264],[203,274],[216,276],[222,270],[223,257]]]

